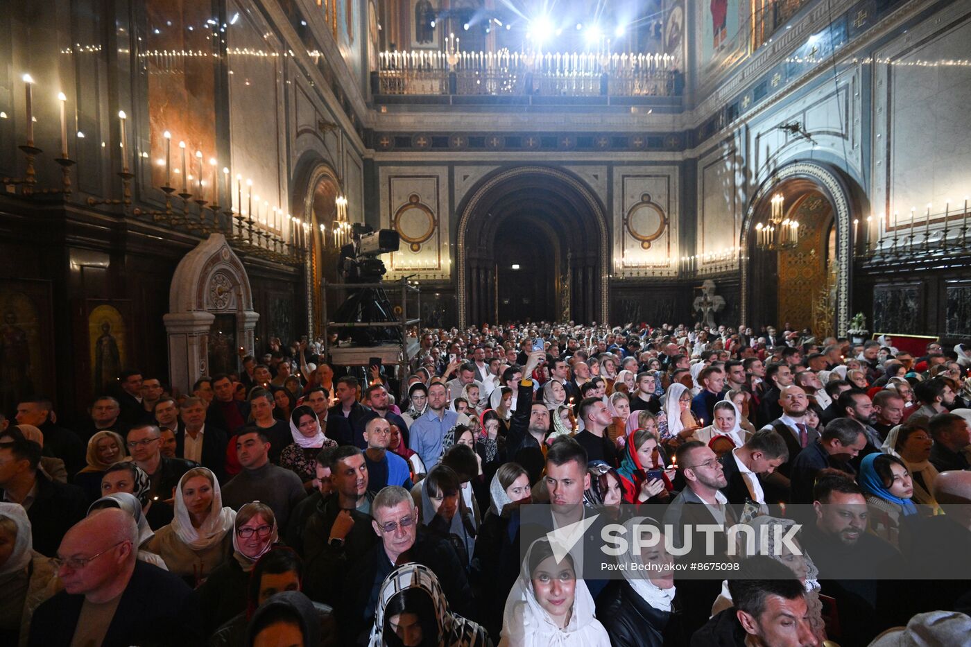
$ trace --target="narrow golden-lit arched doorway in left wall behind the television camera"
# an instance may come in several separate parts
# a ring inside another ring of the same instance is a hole
[[[310,224],[308,258],[308,293],[315,336],[323,334],[323,299],[327,300],[327,312],[334,312],[341,295],[335,290],[320,289],[323,279],[337,283],[337,259],[340,249],[334,243],[333,225],[337,220],[337,196],[341,193],[337,174],[325,164],[318,165],[310,174],[307,192],[304,194],[301,221]],[[323,228],[321,229],[321,225]]]

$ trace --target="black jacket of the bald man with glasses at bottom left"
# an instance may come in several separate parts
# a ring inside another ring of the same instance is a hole
[[[195,624],[185,605],[191,590],[181,578],[146,562],[135,571],[118,600],[102,647],[176,645],[190,638]],[[30,623],[30,647],[70,645],[84,596],[62,591],[41,604]]]

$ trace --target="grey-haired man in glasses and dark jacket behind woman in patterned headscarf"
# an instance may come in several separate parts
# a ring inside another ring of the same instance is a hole
[[[347,570],[337,604],[343,631],[341,644],[363,644],[362,639],[367,642],[381,583],[403,563],[416,562],[431,568],[452,611],[459,615],[474,612],[464,566],[445,540],[418,534],[418,509],[410,492],[397,486],[386,487],[374,497],[371,514],[371,526],[381,542]]]

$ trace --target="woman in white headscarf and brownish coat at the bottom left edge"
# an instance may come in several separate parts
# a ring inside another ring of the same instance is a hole
[[[26,645],[30,619],[62,587],[51,558],[33,550],[27,511],[0,502],[0,644]]]

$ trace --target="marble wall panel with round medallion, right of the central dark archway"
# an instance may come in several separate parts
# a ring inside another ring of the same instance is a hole
[[[614,273],[669,276],[678,269],[678,169],[614,169]]]

